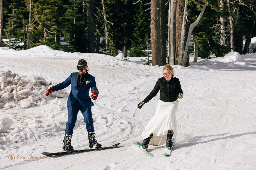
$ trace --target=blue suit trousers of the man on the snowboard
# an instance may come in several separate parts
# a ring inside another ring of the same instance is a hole
[[[81,110],[84,122],[86,123],[86,129],[89,132],[94,132],[93,119],[92,119],[92,107],[83,108],[77,100],[72,106],[68,106],[68,123],[66,126],[65,135],[73,135],[73,130],[76,125],[77,115]]]

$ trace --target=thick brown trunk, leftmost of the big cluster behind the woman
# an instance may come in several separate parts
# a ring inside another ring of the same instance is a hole
[[[151,0],[151,48],[152,65],[166,64],[165,3]]]

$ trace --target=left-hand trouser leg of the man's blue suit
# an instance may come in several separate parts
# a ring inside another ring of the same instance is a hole
[[[77,121],[77,114],[80,109],[79,102],[75,102],[72,106],[68,106],[68,123],[66,125],[65,135],[73,135],[73,130]]]

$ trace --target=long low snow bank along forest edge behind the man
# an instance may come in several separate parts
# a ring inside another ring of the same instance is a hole
[[[93,65],[95,67],[103,67],[114,69],[114,67],[118,67],[121,65],[125,68],[136,67],[136,63],[121,61],[124,56],[122,53],[117,55],[117,57],[113,57],[105,54],[95,54],[95,53],[80,53],[80,52],[65,52],[62,50],[54,50],[47,45],[36,46],[27,50],[14,50],[7,48],[0,48],[0,58],[1,57],[10,57],[15,56],[15,58],[47,58],[47,59],[65,59],[65,60],[80,60],[85,59],[88,62],[88,65]],[[148,70],[148,67],[140,64],[140,69]],[[158,68],[158,66],[155,66]]]

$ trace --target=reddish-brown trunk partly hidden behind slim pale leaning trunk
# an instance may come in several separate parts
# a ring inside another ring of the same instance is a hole
[[[175,47],[175,65],[178,65],[178,57],[179,57],[179,45],[180,45],[180,37],[181,37],[181,30],[182,30],[182,22],[183,22],[183,11],[184,11],[184,4],[185,0],[178,0],[177,1],[177,10],[176,10],[176,47]],[[188,22],[186,20],[185,25],[185,38],[188,32]],[[185,42],[183,41],[183,44]],[[183,54],[182,54],[183,55]]]

